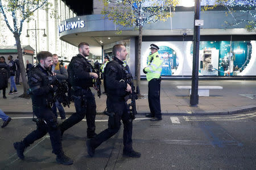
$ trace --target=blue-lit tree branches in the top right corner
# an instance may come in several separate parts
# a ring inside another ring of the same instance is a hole
[[[214,6],[205,6],[204,10],[212,9],[216,6],[224,6],[228,9],[226,14],[230,14],[234,18],[234,22],[228,24],[230,26],[235,26],[241,23],[246,23],[247,31],[255,31],[256,29],[256,1],[255,0],[216,0]],[[241,18],[238,15],[234,15],[234,12],[240,11],[249,14],[248,18]]]

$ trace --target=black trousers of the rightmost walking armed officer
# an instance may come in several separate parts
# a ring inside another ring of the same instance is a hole
[[[91,139],[91,145],[96,148],[102,142],[111,138],[118,132],[123,121],[123,150],[131,151],[133,149],[131,136],[133,134],[133,120],[127,112],[128,107],[125,101],[111,101],[109,98],[106,100],[106,105],[109,113],[114,113],[113,117],[109,117],[108,129],[102,131],[96,137]]]

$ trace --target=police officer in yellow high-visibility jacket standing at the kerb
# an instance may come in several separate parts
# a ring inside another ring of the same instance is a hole
[[[159,47],[155,44],[150,45],[151,54],[148,56],[147,67],[143,69],[148,80],[148,105],[150,113],[146,117],[152,117],[151,121],[162,120],[160,107],[160,83],[163,60],[158,54]]]

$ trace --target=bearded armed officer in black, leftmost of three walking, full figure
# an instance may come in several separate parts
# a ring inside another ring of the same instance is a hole
[[[52,65],[52,54],[42,51],[36,55],[39,64],[32,67],[28,71],[28,85],[31,90],[33,113],[37,118],[33,119],[36,122],[37,128],[27,135],[21,142],[15,142],[14,148],[20,159],[24,159],[24,150],[36,140],[44,137],[49,133],[53,154],[56,161],[61,164],[70,165],[73,160],[68,158],[63,152],[60,141],[60,129],[57,124],[57,118],[52,112],[51,105],[54,101],[53,92],[55,86],[51,85],[52,76],[49,67]]]

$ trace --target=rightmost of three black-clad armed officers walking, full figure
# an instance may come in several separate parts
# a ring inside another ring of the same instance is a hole
[[[114,59],[110,61],[104,71],[104,86],[107,95],[106,105],[109,114],[108,129],[102,131],[96,137],[86,141],[87,151],[94,155],[95,149],[118,132],[123,121],[123,156],[139,158],[141,154],[133,150],[131,135],[133,133],[133,120],[128,112],[125,96],[131,92],[131,86],[126,82],[126,70],[123,60],[127,52],[125,46],[117,44],[113,46]]]

